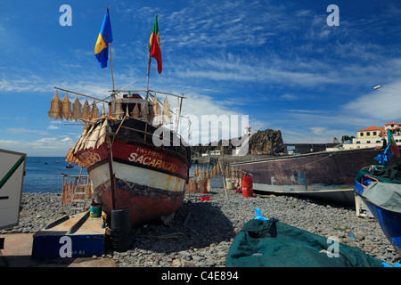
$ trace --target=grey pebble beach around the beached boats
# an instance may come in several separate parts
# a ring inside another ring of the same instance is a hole
[[[186,195],[170,225],[152,222],[135,227],[132,246],[126,252],[110,251],[119,266],[135,267],[221,267],[236,233],[255,217],[276,217],[282,223],[337,237],[340,242],[361,248],[389,264],[401,256],[389,243],[380,225],[372,218],[356,216],[354,208],[326,205],[291,196],[243,198],[241,193],[213,189],[209,201],[202,194]],[[60,194],[24,193],[20,224],[8,232],[37,232],[61,216]],[[106,257],[107,258],[107,257]]]

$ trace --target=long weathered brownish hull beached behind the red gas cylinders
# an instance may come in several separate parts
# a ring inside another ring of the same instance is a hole
[[[355,175],[377,163],[375,149],[321,151],[296,156],[244,161],[232,167],[252,175],[256,191],[290,193],[355,205]]]

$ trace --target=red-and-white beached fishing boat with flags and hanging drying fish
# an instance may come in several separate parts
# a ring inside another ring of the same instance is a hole
[[[112,41],[110,36],[107,10],[95,47],[102,67],[107,64],[107,50]],[[149,51],[147,89],[114,90],[113,81],[113,90],[107,97],[110,100],[105,100],[56,87],[58,91],[92,98],[94,103],[91,106],[86,99],[84,106],[80,106],[76,100],[70,110],[67,95],[61,102],[56,92],[49,110],[52,118],[75,119],[85,123],[83,133],[68,151],[66,161],[86,167],[92,183],[92,197],[108,217],[113,211],[127,210],[131,225],[171,217],[184,200],[191,167],[191,149],[177,134],[184,96],[149,89],[151,57],[158,61],[158,71],[161,72],[157,16]],[[101,53],[105,54],[106,60],[99,55]],[[165,96],[163,103],[158,96]],[[176,97],[178,103],[175,129],[170,126],[173,114],[167,99],[170,96]],[[103,103],[101,116],[96,102]],[[108,105],[107,114],[104,103]]]

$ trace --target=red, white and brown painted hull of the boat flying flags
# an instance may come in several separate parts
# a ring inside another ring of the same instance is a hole
[[[149,138],[148,142],[131,139],[144,132],[129,126],[135,122],[124,123],[111,126],[122,131],[114,131],[110,141],[76,152],[91,178],[95,202],[108,216],[112,210],[128,208],[132,225],[173,214],[184,200],[190,162],[182,153],[188,150],[157,147]],[[148,132],[150,128],[144,127]]]

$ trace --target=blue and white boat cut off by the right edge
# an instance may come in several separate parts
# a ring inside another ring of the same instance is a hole
[[[392,168],[397,169],[397,167],[398,165]],[[401,181],[396,179],[394,171],[387,178],[378,175],[380,172],[391,172],[389,169],[388,166],[361,169],[356,175],[355,192],[381,225],[381,230],[389,242],[401,255]]]

